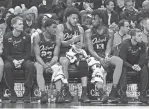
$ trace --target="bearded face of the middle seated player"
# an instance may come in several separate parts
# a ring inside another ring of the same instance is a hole
[[[72,14],[68,17],[68,22],[71,26],[76,26],[79,18],[77,14]]]

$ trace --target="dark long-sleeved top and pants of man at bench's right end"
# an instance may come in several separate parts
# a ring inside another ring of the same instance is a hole
[[[148,71],[146,68],[146,47],[145,43],[139,43],[137,45],[132,45],[131,39],[125,40],[121,44],[120,49],[120,58],[124,61],[123,66],[123,73],[121,75],[120,79],[120,86],[122,89],[122,95],[126,95],[127,90],[127,72],[128,71],[134,71],[132,69],[132,66],[134,64],[138,64],[141,67],[141,71],[137,73],[137,75],[140,75],[140,91],[141,96],[145,96],[146,90],[147,90],[147,84],[148,84]]]

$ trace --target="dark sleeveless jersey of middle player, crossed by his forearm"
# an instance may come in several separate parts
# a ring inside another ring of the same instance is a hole
[[[64,41],[70,40],[75,33],[77,33],[78,35],[80,34],[79,28],[77,26],[73,28],[73,30],[68,29],[66,24],[63,24],[63,26],[64,26],[64,31],[63,31]],[[71,46],[64,47],[63,45],[61,45],[60,55],[65,55],[70,48]]]

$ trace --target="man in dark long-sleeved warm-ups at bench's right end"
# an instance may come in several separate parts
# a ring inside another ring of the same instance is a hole
[[[127,39],[121,44],[120,58],[123,59],[123,71],[120,79],[120,101],[128,103],[126,96],[127,90],[127,72],[133,71],[140,76],[140,102],[148,103],[146,90],[148,86],[148,71],[146,67],[146,46],[142,42],[141,30],[132,29],[131,39]]]

